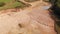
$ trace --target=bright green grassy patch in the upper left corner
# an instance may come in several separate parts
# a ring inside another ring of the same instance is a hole
[[[23,2],[18,2],[16,0],[0,0],[0,10],[9,8],[23,8],[29,6]]]

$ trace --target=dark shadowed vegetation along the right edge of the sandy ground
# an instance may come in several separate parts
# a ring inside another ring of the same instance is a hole
[[[49,0],[49,2],[53,5],[52,12],[54,13],[56,19],[55,29],[58,34],[60,34],[60,0]]]

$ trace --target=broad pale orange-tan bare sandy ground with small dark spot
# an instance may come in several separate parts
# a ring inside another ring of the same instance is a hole
[[[43,3],[39,4],[17,12],[12,12],[15,9],[2,10],[0,34],[56,34],[49,11],[42,8]]]

